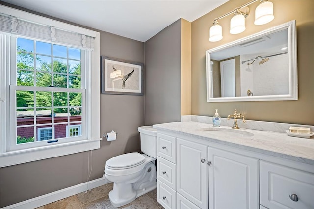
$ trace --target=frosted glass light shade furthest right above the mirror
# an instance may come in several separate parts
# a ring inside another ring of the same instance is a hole
[[[255,9],[255,25],[263,25],[274,19],[274,5],[268,0],[262,1]]]

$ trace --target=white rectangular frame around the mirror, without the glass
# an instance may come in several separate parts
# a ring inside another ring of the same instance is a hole
[[[288,28],[288,54],[289,54],[289,94],[284,95],[265,95],[265,96],[250,96],[250,97],[211,97],[211,60],[210,53],[217,52],[237,44],[247,42],[250,39],[258,36],[264,36],[273,32],[281,31]],[[296,40],[296,24],[295,20],[284,23],[279,26],[263,30],[253,35],[235,40],[222,46],[206,51],[206,85],[207,85],[207,102],[237,102],[237,101],[278,101],[278,100],[298,100],[298,72],[297,72],[297,40]]]

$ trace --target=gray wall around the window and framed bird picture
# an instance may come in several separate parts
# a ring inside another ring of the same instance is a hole
[[[99,32],[101,55],[144,63],[143,42]],[[101,149],[93,151],[90,180],[103,176],[107,159],[123,153],[140,152],[137,127],[144,125],[144,96],[101,94],[100,100],[100,136],[112,129],[119,135],[116,141],[101,141]],[[88,152],[1,168],[0,207],[86,182],[87,168]]]

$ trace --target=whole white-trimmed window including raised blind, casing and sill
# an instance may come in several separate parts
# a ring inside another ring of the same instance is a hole
[[[0,6],[0,166],[99,149],[99,33]]]

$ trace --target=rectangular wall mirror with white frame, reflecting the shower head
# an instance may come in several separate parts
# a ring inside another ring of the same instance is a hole
[[[295,20],[206,51],[207,102],[297,100]]]

